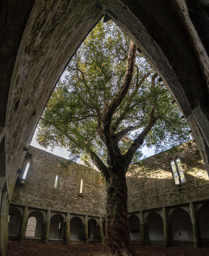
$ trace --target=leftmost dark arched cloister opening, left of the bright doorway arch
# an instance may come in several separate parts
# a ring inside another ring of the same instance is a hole
[[[8,223],[8,234],[9,236],[18,236],[20,222],[21,222],[21,211],[14,206],[9,207],[10,220]]]

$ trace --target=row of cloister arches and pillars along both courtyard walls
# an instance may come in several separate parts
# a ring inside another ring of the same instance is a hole
[[[193,209],[192,204],[130,213],[128,217],[130,241],[141,245],[167,243],[166,246],[168,246],[178,241],[194,243],[197,235],[199,244],[207,243],[209,240],[207,218],[209,204],[208,202],[193,204],[196,209],[195,215],[191,210]],[[10,238],[20,240],[22,226],[24,226],[24,239],[31,239],[32,237],[26,235],[26,227],[28,219],[34,217],[36,218],[34,239],[46,242],[48,237],[48,240],[66,243],[70,240],[81,240],[86,243],[91,240],[104,241],[105,218],[53,211],[49,218],[49,210],[29,208],[24,224],[26,209],[27,207],[10,205],[8,224]],[[70,221],[69,215],[71,216]],[[196,222],[194,222],[194,218]],[[69,239],[67,238],[67,228],[70,230]],[[194,234],[195,230],[197,233]],[[168,240],[167,237],[169,237]]]

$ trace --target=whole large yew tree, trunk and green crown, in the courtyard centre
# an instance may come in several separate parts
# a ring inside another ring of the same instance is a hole
[[[44,147],[67,147],[105,178],[106,242],[100,255],[138,255],[130,246],[126,173],[142,157],[189,139],[176,103],[137,46],[112,22],[99,22],[67,66],[39,123]]]

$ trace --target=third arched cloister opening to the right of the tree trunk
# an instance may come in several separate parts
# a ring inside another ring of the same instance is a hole
[[[169,215],[173,240],[192,240],[193,228],[190,214],[182,208],[174,209]]]

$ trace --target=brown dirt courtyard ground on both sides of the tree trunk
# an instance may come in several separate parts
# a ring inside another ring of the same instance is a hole
[[[25,240],[19,243],[9,241],[7,256],[92,256],[101,251],[101,243],[71,243],[69,246],[62,243],[43,244],[37,241]],[[133,244],[133,248],[141,256],[209,256],[209,247],[194,249],[191,245],[172,246],[164,248],[161,245],[139,246]]]

